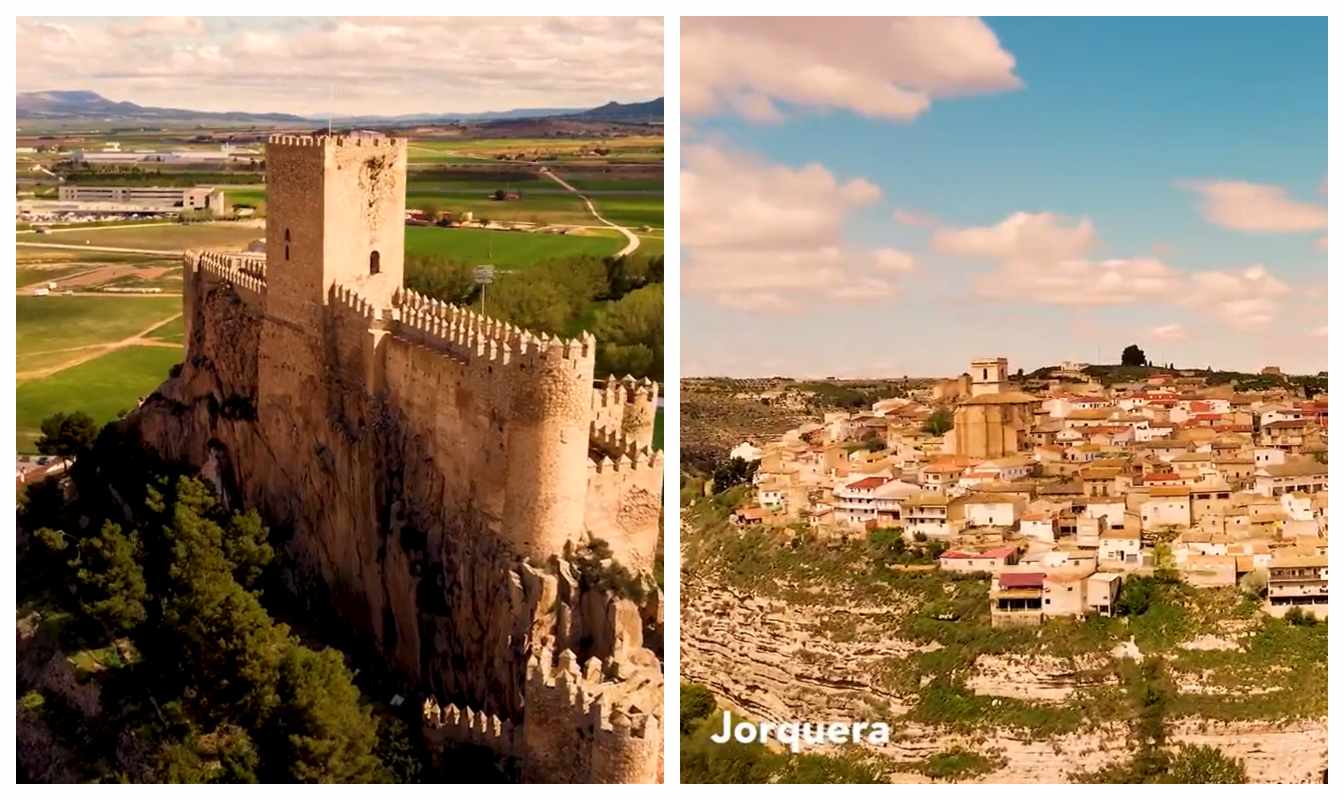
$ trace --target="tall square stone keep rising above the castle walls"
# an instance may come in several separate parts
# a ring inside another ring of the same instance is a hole
[[[316,325],[333,284],[390,305],[402,285],[405,242],[405,138],[270,137],[267,316]]]

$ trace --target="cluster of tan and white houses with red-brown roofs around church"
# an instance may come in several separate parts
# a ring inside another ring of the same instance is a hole
[[[1199,374],[1102,386],[1083,367],[1024,385],[974,360],[922,397],[742,442],[731,457],[758,467],[735,518],[937,542],[942,569],[997,575],[1001,624],[1109,614],[1125,574],[1156,569],[1195,586],[1259,573],[1269,613],[1325,617],[1325,395]]]

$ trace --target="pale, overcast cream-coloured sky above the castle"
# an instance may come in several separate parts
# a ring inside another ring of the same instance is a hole
[[[19,17],[19,91],[410,114],[663,95],[660,17]]]

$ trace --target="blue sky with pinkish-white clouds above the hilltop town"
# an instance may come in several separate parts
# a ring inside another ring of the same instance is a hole
[[[681,35],[683,374],[1327,368],[1324,19]]]

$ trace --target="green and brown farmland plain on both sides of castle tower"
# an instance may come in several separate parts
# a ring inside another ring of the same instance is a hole
[[[441,130],[433,138],[413,133],[407,208],[470,214],[476,222],[543,230],[409,226],[407,281],[433,285],[437,273],[493,264],[503,274],[489,294],[492,313],[570,335],[616,308],[617,297],[629,289],[612,294],[598,261],[620,251],[625,237],[594,219],[581,196],[543,175],[540,167],[547,165],[586,194],[602,216],[637,233],[634,261],[642,274],[645,261],[663,255],[663,138],[603,130],[591,136],[571,133],[478,137],[470,126]],[[137,148],[195,147],[173,137],[172,132],[146,132],[118,140]],[[71,141],[70,147],[87,144]],[[58,159],[47,155],[36,161],[60,168]],[[20,450],[32,449],[40,421],[55,411],[85,410],[103,422],[133,407],[164,379],[168,366],[180,358],[184,333],[181,261],[176,253],[242,250],[266,235],[266,186],[259,164],[220,172],[172,167],[79,171],[67,180],[215,184],[231,204],[254,211],[245,222],[56,223],[44,225],[47,233],[40,234],[19,226],[15,286]],[[500,190],[516,196],[493,199]],[[52,187],[39,182],[31,191],[50,195]],[[517,274],[521,272],[535,274],[523,278]],[[587,277],[577,278],[571,272]],[[546,285],[528,286],[528,281]],[[36,296],[48,284],[52,294]],[[157,289],[161,294],[102,293],[108,288]],[[469,297],[474,301],[478,296]],[[550,308],[527,311],[540,298]],[[612,368],[620,370],[620,364]]]

